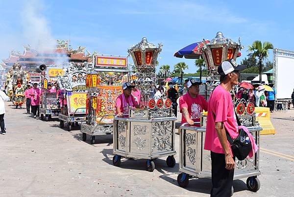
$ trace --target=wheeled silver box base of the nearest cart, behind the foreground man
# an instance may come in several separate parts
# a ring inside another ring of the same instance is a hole
[[[257,145],[260,143],[259,126],[247,127],[254,137]],[[204,150],[205,127],[189,126],[186,123],[180,127],[180,164],[177,181],[181,187],[187,187],[189,178],[211,178],[210,151]],[[234,179],[247,178],[246,184],[249,190],[256,192],[260,188],[257,175],[259,170],[259,150],[252,158],[243,161],[235,161]]]

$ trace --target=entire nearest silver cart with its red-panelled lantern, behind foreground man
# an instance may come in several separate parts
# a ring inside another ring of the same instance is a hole
[[[240,50],[239,44],[231,39],[223,37],[221,32],[210,41],[203,41],[198,47],[198,52],[204,57],[206,66],[210,71],[211,83],[201,84],[200,90],[205,90],[202,94],[209,95],[219,84],[219,75],[217,74],[218,65],[226,59],[236,59]],[[201,93],[201,92],[200,92]],[[234,103],[236,113],[243,126],[247,127],[252,134],[256,144],[260,144],[260,131],[262,128],[255,121],[254,104],[244,99]],[[200,127],[191,126],[187,123],[180,126],[180,162],[177,182],[181,187],[187,187],[189,178],[211,178],[211,158],[210,151],[204,150],[206,115],[200,117]],[[199,122],[197,122],[199,124]],[[245,160],[235,161],[234,179],[247,178],[246,184],[250,191],[256,192],[260,188],[260,182],[257,178],[261,172],[259,170],[259,150],[253,154],[253,157]],[[232,187],[231,195],[234,188]]]

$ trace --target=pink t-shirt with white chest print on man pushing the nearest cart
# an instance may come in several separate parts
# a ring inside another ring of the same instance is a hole
[[[196,98],[193,98],[190,96],[190,94],[187,92],[187,94],[184,94],[180,97],[179,100],[180,104],[180,113],[183,113],[183,108],[186,107],[188,109],[190,119],[194,122],[200,121],[200,115],[203,110],[207,112],[208,108],[208,102],[205,100],[205,98],[201,95],[197,95]],[[182,114],[182,122],[186,123],[187,120]]]

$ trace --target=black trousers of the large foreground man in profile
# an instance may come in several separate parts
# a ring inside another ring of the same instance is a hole
[[[210,197],[230,197],[234,169],[225,169],[224,154],[210,151],[212,188]],[[233,157],[235,160],[235,157]]]

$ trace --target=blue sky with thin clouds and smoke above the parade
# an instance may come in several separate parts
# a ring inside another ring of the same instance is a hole
[[[71,35],[73,48],[112,55],[127,55],[131,45],[147,37],[164,45],[160,65],[173,68],[184,61],[192,73],[194,60],[173,54],[218,31],[235,41],[241,38],[245,49],[238,62],[254,40],[294,51],[293,7],[291,0],[0,0],[0,59],[44,37]]]

